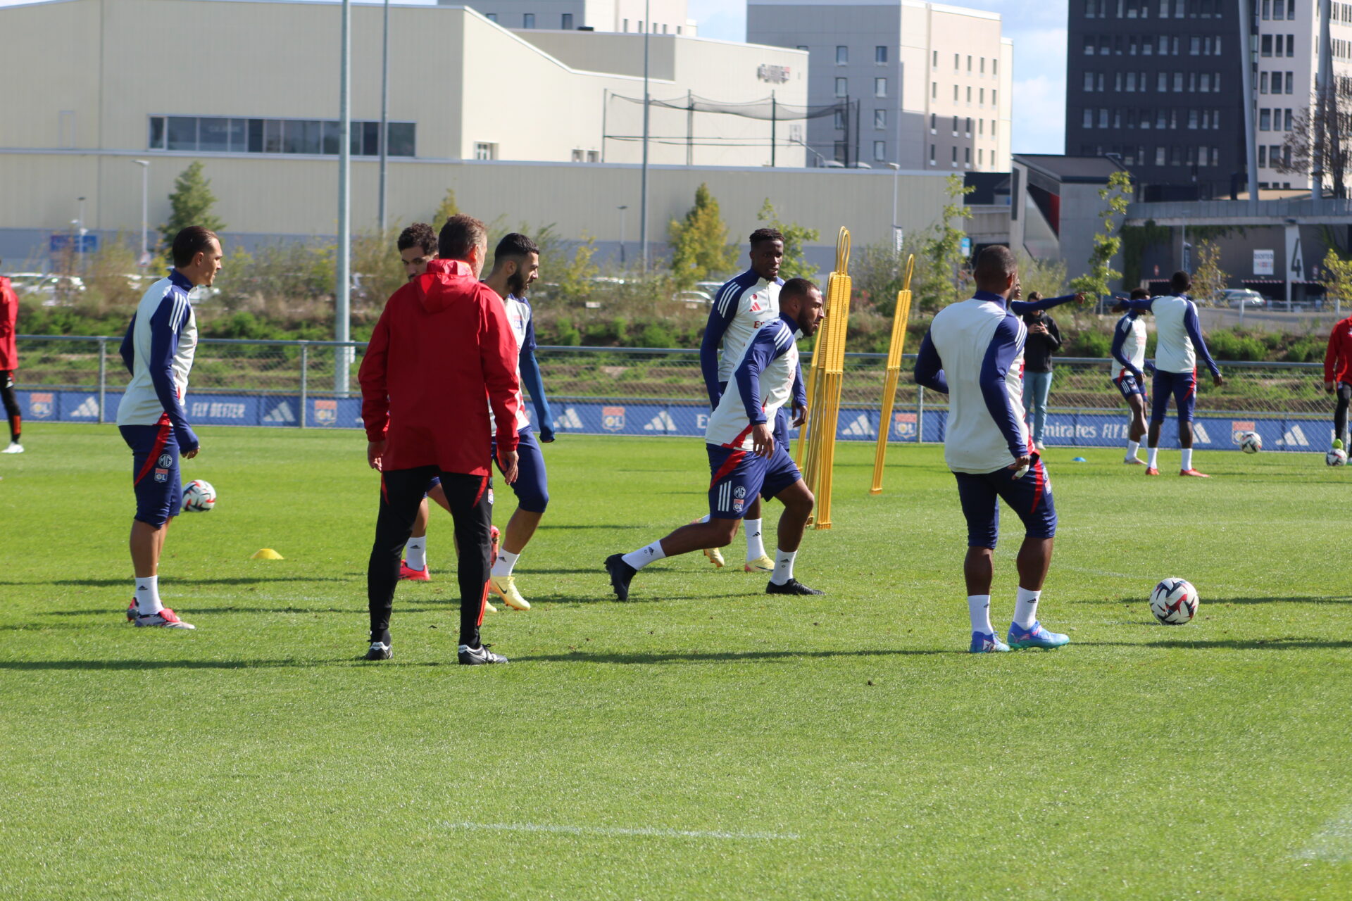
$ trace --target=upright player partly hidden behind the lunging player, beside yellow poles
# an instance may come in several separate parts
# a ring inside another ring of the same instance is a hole
[[[719,398],[727,389],[733,370],[742,361],[752,335],[779,313],[779,293],[784,285],[784,280],[779,277],[779,265],[783,259],[784,235],[777,228],[757,228],[750,235],[752,267],[723,284],[714,297],[704,339],[699,344],[699,367],[708,390],[710,409],[718,409]],[[723,347],[722,357],[718,353],[719,343]],[[800,371],[795,373],[791,401],[788,407],[795,413],[796,424],[802,426],[807,421],[807,390]],[[779,411],[772,428],[775,440],[788,447],[787,409]],[[699,521],[708,521],[708,517]],[[765,554],[761,538],[760,497],[752,500],[742,525],[746,532],[746,563],[742,569],[748,573],[772,571],[775,561]],[[715,567],[723,566],[723,554],[717,547],[704,548],[704,555]]]

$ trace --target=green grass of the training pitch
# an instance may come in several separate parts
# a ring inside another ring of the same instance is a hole
[[[0,457],[9,897],[1352,894],[1352,473],[1315,455],[1203,453],[1215,478],[1184,481],[1053,448],[1042,616],[1073,643],[971,657],[938,448],[892,450],[882,497],[872,448],[840,448],[836,528],[799,558],[826,598],[687,557],[617,604],[602,559],[702,511],[704,455],[564,436],[518,567],[535,607],[485,623],[512,663],[464,669],[445,516],[435,581],[399,589],[396,658],[356,659],[360,434],[203,432],[185,477],[220,504],[177,521],[162,565],[187,635],[122,619],[111,427],[35,426]],[[511,508],[499,486],[499,524]],[[1192,624],[1152,623],[1164,575],[1201,590]]]

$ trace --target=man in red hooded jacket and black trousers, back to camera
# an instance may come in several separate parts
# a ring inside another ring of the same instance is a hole
[[[441,259],[385,304],[358,376],[366,459],[381,474],[366,569],[366,659],[391,658],[400,555],[427,482],[438,475],[460,546],[460,662],[506,663],[480,643],[479,627],[491,566],[489,409],[503,478],[516,480],[516,339],[498,294],[479,281],[488,250],[484,224],[453,216],[438,244]]]

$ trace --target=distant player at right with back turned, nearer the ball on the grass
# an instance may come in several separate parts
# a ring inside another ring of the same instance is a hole
[[[1125,300],[1119,307],[1138,312],[1155,313],[1155,393],[1151,403],[1149,459],[1146,475],[1159,475],[1160,427],[1168,413],[1169,396],[1178,407],[1179,446],[1183,448],[1183,463],[1179,475],[1210,478],[1206,473],[1192,469],[1192,408],[1197,404],[1197,358],[1211,370],[1211,381],[1220,388],[1225,384],[1221,367],[1211,359],[1202,338],[1202,323],[1197,317],[1197,304],[1187,296],[1192,277],[1182,269],[1169,280],[1174,294]]]

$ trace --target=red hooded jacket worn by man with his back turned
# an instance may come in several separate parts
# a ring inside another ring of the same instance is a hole
[[[496,292],[468,263],[427,263],[389,297],[361,361],[366,438],[388,440],[381,467],[488,475],[489,404],[498,451],[516,450],[516,355]]]

